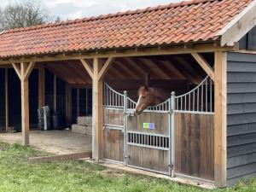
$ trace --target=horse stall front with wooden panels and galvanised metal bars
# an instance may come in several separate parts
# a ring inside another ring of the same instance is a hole
[[[212,55],[206,57],[212,60]],[[189,63],[201,73],[200,66],[192,57],[189,59]],[[155,67],[160,66],[160,62],[161,59],[154,60]],[[116,63],[114,68],[120,65],[129,67],[129,63]],[[169,63],[169,67],[172,64]],[[148,77],[148,73],[145,73],[145,82],[142,79],[128,82],[107,80],[103,84],[104,160],[212,183],[214,83],[201,73],[203,76],[205,78],[201,78],[198,84],[183,79],[156,80]],[[143,84],[162,86],[170,94],[166,101],[137,114],[137,90]]]

